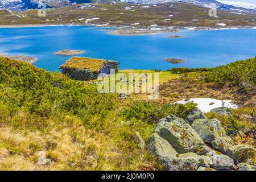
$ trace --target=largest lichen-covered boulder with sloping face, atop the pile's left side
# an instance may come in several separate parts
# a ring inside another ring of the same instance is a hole
[[[196,147],[204,145],[204,141],[184,119],[177,118],[170,122],[163,119],[156,125],[155,132],[166,139],[180,154],[195,152]]]

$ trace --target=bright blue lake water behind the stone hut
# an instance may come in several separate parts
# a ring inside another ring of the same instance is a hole
[[[183,38],[167,38],[171,35]],[[79,56],[117,60],[120,69],[215,67],[256,56],[256,30],[121,36],[84,26],[0,28],[0,53],[37,57],[36,67],[59,71],[59,66],[71,57],[54,54],[62,49],[86,51]],[[164,61],[168,57],[187,61],[172,64]]]

